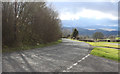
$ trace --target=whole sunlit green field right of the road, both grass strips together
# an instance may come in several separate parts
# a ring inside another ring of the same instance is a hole
[[[118,46],[117,42],[87,42],[92,46],[95,46],[90,54],[95,56],[104,57],[107,59],[120,61],[118,50],[120,47]]]

